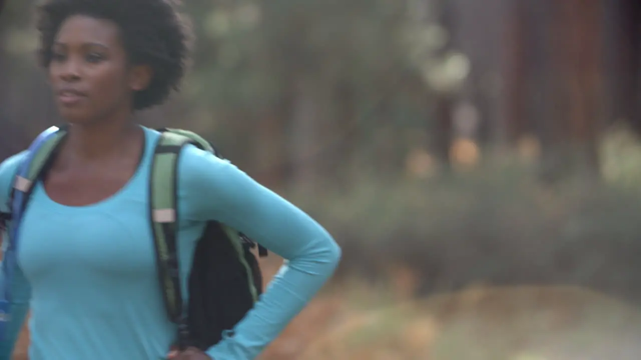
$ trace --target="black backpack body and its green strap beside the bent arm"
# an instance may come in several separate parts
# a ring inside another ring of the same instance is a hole
[[[222,157],[211,143],[195,133],[158,130],[162,134],[151,165],[149,203],[160,285],[167,314],[178,324],[178,348],[193,346],[206,350],[221,341],[222,333],[231,331],[262,294],[262,273],[251,251],[256,243],[224,224],[208,222],[194,252],[187,313],[183,313],[176,257],[179,153],[184,145],[192,143]],[[267,256],[267,249],[260,245],[258,252]]]

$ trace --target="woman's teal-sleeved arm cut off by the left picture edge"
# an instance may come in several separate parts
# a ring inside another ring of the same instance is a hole
[[[3,163],[0,163],[1,212],[9,212],[8,202],[13,177],[15,176],[18,164],[24,158],[24,154],[25,152],[21,152],[7,160],[4,160]],[[8,245],[6,233],[0,232],[0,240],[2,241],[4,254],[4,249],[6,249],[6,246]],[[29,299],[31,299],[31,287],[29,286],[27,279],[24,277],[24,274],[22,274],[22,270],[18,267],[15,269],[13,274],[10,321],[7,323],[5,338],[0,340],[0,360],[8,360],[11,358],[13,347],[18,339],[22,325],[24,324],[24,318],[26,318],[29,311]],[[0,290],[3,288],[4,274],[0,272]]]

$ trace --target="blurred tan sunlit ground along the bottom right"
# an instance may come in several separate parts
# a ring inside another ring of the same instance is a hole
[[[274,270],[265,265],[268,276]],[[395,297],[358,282],[329,286],[261,359],[637,360],[641,354],[641,312],[589,290],[477,288],[426,300]],[[25,332],[14,359],[27,359],[27,341]]]

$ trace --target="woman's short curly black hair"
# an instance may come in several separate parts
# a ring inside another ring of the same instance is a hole
[[[149,65],[153,79],[134,95],[134,110],[162,104],[178,90],[187,69],[192,33],[176,0],[46,0],[37,7],[40,65],[49,67],[51,47],[62,23],[72,15],[111,20],[119,26],[128,60]]]

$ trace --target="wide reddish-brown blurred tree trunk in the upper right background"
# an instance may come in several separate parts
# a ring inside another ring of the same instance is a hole
[[[510,138],[537,134],[545,181],[576,172],[595,181],[605,115],[601,2],[510,4],[505,69]]]

